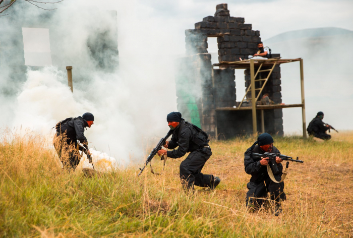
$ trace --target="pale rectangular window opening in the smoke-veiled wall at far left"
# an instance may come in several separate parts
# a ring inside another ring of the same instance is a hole
[[[22,28],[25,65],[51,65],[49,29]]]

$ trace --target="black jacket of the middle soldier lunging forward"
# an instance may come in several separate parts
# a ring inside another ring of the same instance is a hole
[[[168,144],[168,149],[174,149],[179,146],[177,150],[168,150],[167,156],[169,158],[180,158],[183,157],[187,152],[192,152],[200,147],[192,142],[193,136],[196,134],[196,130],[190,124],[182,121],[171,136]],[[207,145],[207,143],[205,143]]]

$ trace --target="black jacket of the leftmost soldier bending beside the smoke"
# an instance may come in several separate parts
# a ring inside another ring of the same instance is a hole
[[[86,127],[88,127],[88,123],[81,116],[72,118],[67,124],[61,127],[61,132],[56,132],[56,136],[65,133],[68,144],[74,143],[77,145],[77,140],[79,140],[80,143],[87,145],[87,138],[84,135]],[[82,148],[80,147],[80,150],[81,149]]]

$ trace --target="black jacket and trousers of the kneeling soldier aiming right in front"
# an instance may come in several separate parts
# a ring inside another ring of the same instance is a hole
[[[255,207],[262,205],[264,200],[253,199],[253,198],[266,198],[267,192],[270,192],[270,199],[279,202],[280,200],[285,200],[285,194],[283,192],[284,183],[274,183],[267,173],[267,165],[260,164],[259,159],[253,159],[252,153],[263,154],[263,151],[259,145],[255,145],[254,149],[251,147],[244,153],[244,165],[245,171],[251,174],[250,182],[247,184],[249,191],[247,192],[246,203],[247,206],[253,204]],[[279,153],[279,150],[273,146],[271,153]],[[279,174],[274,175],[277,181],[281,180],[283,166],[281,163],[277,164]],[[250,198],[253,197],[253,198]]]

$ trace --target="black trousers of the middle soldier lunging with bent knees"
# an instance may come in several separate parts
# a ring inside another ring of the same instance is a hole
[[[199,187],[211,187],[214,177],[211,174],[201,172],[206,161],[211,157],[210,148],[202,148],[191,152],[180,164],[180,179],[184,189]]]

